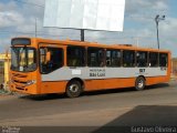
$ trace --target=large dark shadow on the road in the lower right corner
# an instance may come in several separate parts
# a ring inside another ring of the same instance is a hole
[[[139,105],[111,121],[95,133],[132,132],[132,127],[176,126],[177,106]],[[156,129],[157,130],[157,129]]]

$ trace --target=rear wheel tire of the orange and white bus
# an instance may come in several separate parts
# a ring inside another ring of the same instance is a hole
[[[145,79],[143,76],[138,76],[135,81],[136,91],[142,91],[145,89]]]

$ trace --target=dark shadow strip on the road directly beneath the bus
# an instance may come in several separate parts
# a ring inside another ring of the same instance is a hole
[[[168,88],[168,83],[160,83],[156,85],[146,86],[144,91],[153,90],[153,89],[166,89]],[[84,92],[81,96],[94,96],[94,95],[102,95],[102,94],[112,94],[112,93],[131,93],[136,92],[135,88],[126,88],[126,89],[107,89],[102,91],[92,91],[92,92]],[[44,101],[44,100],[55,100],[55,99],[67,99],[65,94],[42,94],[42,95],[22,95],[19,96],[20,99],[29,99],[35,101]]]

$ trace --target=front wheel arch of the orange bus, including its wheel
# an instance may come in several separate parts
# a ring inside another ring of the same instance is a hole
[[[84,91],[84,81],[80,78],[71,79],[65,89],[65,93],[69,98],[77,98]]]

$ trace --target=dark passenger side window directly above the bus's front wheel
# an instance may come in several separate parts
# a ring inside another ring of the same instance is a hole
[[[85,48],[67,47],[67,66],[85,65]]]

